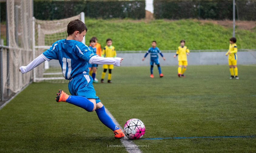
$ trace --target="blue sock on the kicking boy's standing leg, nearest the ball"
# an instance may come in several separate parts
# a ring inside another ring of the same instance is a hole
[[[98,115],[99,120],[109,129],[111,129],[112,131],[119,129],[113,122],[113,120],[109,117],[109,115],[106,113],[104,106],[99,109],[96,109],[95,111]]]

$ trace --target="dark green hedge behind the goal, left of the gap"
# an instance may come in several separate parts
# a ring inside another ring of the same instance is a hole
[[[145,1],[34,1],[34,16],[41,20],[68,18],[85,12],[90,18],[145,18]]]

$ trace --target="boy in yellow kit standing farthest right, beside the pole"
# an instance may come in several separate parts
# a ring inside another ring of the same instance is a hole
[[[229,39],[229,50],[226,53],[226,56],[228,55],[228,65],[231,77],[229,79],[233,79],[234,77],[236,79],[239,79],[237,77],[237,39],[235,37],[232,37]],[[234,73],[235,72],[235,73]]]

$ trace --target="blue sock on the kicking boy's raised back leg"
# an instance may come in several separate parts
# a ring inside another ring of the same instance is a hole
[[[93,103],[89,101],[87,98],[82,96],[69,96],[69,98],[66,100],[67,103],[76,105],[78,107],[81,107],[85,109],[88,112],[93,111]]]

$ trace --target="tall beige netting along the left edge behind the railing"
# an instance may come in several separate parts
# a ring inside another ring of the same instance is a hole
[[[19,72],[20,66],[32,60],[32,11],[33,0],[6,1],[6,25],[1,25],[6,26],[6,46],[1,50],[0,57],[2,102],[10,99],[32,81],[32,73],[21,75]]]

